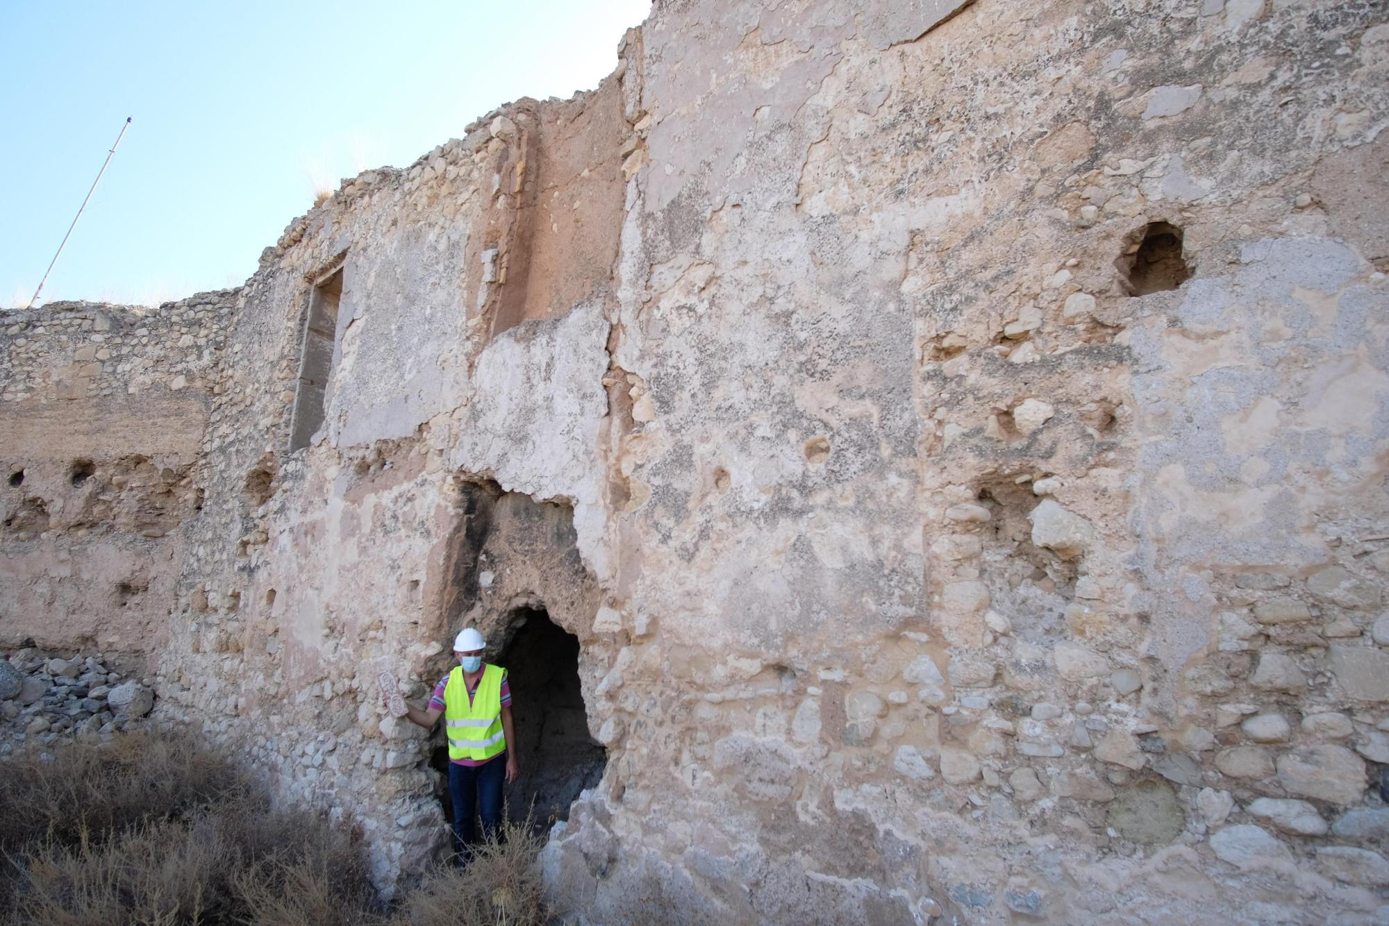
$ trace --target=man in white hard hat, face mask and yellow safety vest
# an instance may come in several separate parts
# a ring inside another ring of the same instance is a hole
[[[449,794],[453,798],[453,851],[457,861],[479,843],[474,815],[482,818],[482,839],[501,825],[501,782],[517,780],[521,766],[511,723],[507,671],[482,661],[486,640],[465,628],[453,641],[458,665],[439,679],[424,711],[406,705],[406,716],[426,730],[443,714],[449,737]]]

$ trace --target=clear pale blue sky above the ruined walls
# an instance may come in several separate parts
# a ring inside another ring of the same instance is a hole
[[[43,301],[235,286],[314,187],[400,167],[617,67],[650,0],[0,0],[0,308],[24,305],[126,115]]]

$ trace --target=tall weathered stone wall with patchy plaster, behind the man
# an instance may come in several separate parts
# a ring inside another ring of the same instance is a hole
[[[346,180],[226,297],[156,714],[386,887],[443,830],[376,673],[543,608],[561,915],[1385,916],[1386,18],[661,3]]]

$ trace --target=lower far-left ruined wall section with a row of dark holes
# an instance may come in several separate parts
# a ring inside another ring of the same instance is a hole
[[[233,304],[201,293],[6,312],[0,644],[142,662],[165,639]]]

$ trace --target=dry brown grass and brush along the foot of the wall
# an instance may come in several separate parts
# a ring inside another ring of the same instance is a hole
[[[363,845],[186,739],[68,743],[0,764],[0,922],[39,926],[471,926],[546,922],[529,826],[394,908]]]

